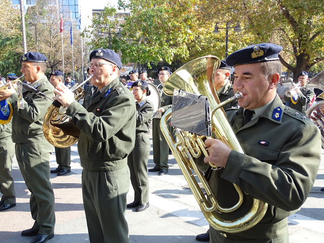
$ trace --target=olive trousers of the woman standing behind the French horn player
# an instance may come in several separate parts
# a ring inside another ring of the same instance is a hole
[[[147,134],[137,135],[135,147],[127,158],[130,168],[131,182],[134,188],[134,201],[140,204],[148,203],[147,161],[151,151],[151,143]]]

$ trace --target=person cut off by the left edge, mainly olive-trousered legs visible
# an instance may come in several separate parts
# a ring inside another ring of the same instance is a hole
[[[0,83],[0,88],[4,86]],[[15,155],[15,144],[11,139],[11,121],[0,124],[0,212],[16,206],[16,192],[11,167]]]

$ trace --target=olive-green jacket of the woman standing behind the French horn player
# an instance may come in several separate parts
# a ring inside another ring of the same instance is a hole
[[[149,133],[150,123],[153,115],[153,104],[148,99],[136,102],[136,135]]]

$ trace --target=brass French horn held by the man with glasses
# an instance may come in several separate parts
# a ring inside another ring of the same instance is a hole
[[[85,96],[82,85],[85,84],[93,74],[89,76],[83,83],[76,84],[70,88],[74,93],[74,100],[79,101]],[[65,115],[66,107],[59,102],[53,102],[48,108],[43,124],[43,132],[49,143],[58,148],[67,148],[77,142],[80,130],[72,123],[70,118]]]

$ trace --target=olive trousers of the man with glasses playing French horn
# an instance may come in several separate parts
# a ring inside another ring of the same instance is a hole
[[[91,243],[129,243],[125,218],[130,188],[128,166],[114,171],[82,171],[82,195]]]

